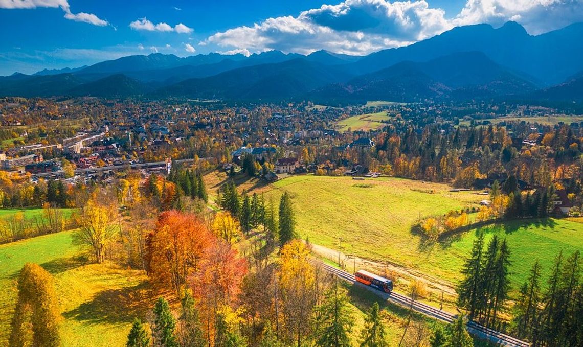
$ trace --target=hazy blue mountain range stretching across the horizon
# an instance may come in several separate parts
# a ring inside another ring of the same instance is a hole
[[[0,95],[224,100],[583,101],[583,23],[531,36],[515,22],[456,27],[368,56],[317,51],[126,56],[0,77]]]

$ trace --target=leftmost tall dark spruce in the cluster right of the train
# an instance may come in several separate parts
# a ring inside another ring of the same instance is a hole
[[[472,254],[462,268],[463,281],[458,286],[458,302],[460,306],[468,307],[470,318],[474,317],[483,295],[482,288],[482,249],[484,233],[480,232],[473,242]]]

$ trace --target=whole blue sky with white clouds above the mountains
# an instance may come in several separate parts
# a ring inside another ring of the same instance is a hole
[[[544,33],[583,21],[582,0],[0,0],[0,75],[151,52],[364,55],[507,20]]]

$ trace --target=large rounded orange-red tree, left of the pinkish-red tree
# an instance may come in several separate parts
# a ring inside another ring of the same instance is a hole
[[[194,214],[166,211],[147,240],[149,275],[180,294],[187,279],[201,267],[213,236]]]

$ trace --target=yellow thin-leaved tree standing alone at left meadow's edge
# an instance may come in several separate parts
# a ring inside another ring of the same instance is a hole
[[[73,233],[73,244],[91,249],[97,263],[106,259],[107,246],[118,233],[115,210],[115,206],[104,206],[94,197],[87,201],[79,215],[79,229]]]

